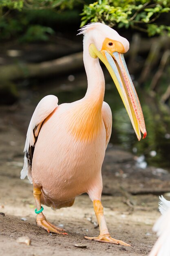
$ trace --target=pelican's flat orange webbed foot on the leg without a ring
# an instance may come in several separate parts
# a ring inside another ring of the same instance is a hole
[[[124,245],[124,246],[130,246],[129,244],[121,241],[121,240],[117,240],[115,238],[112,238],[110,236],[110,234],[106,234],[106,235],[99,235],[97,237],[88,237],[85,236],[85,239],[89,239],[89,240],[95,240],[98,242],[104,242],[104,243],[111,243],[111,244],[116,244],[116,245]]]

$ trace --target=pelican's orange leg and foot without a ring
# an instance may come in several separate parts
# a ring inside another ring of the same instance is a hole
[[[115,238],[112,238],[108,232],[107,226],[106,226],[106,221],[104,218],[104,212],[103,212],[103,206],[100,200],[94,200],[93,201],[93,207],[95,210],[95,215],[97,218],[97,221],[99,223],[99,230],[100,234],[97,237],[87,237],[85,236],[86,239],[90,240],[96,240],[99,242],[105,242],[105,243],[112,243],[112,244],[117,244],[117,245],[125,245],[125,246],[130,246],[129,244],[117,240]]]

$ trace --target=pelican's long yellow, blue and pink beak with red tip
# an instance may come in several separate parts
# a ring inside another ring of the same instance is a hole
[[[144,116],[124,60],[124,55],[119,52],[109,53],[107,50],[98,51],[93,43],[89,47],[89,52],[93,55],[93,58],[95,56],[99,57],[106,65],[128,112],[138,140],[141,139],[141,132],[144,134],[144,139],[147,134]]]

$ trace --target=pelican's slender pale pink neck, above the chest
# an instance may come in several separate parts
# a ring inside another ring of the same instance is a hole
[[[88,88],[84,99],[90,100],[91,103],[101,106],[104,100],[105,81],[102,68],[98,58],[92,58],[89,54],[90,40],[84,37],[83,61],[86,70]]]

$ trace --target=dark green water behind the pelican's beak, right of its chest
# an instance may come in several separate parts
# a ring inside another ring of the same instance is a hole
[[[147,137],[137,140],[121,101],[117,100],[117,92],[112,89],[110,94],[106,92],[105,100],[109,103],[113,112],[113,135],[111,142],[121,144],[127,150],[136,155],[144,155],[149,165],[170,170],[170,115],[163,106],[138,90],[139,99],[144,113]],[[116,99],[116,104],[112,103]]]

